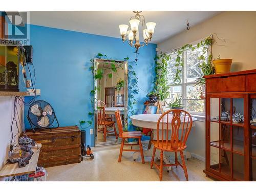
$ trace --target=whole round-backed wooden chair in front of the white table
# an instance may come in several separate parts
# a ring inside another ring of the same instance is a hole
[[[191,130],[193,121],[189,113],[181,109],[169,110],[163,113],[157,122],[157,138],[152,140],[154,145],[151,168],[155,165],[159,169],[159,179],[162,181],[163,166],[181,166],[188,181],[187,168],[183,151]],[[171,134],[168,133],[171,131]],[[154,161],[156,150],[160,150],[160,165]],[[174,152],[175,163],[163,164],[163,152]],[[177,153],[180,153],[182,164],[178,161]]]

